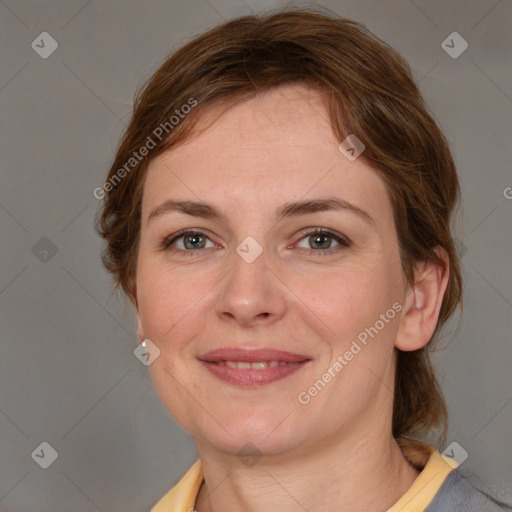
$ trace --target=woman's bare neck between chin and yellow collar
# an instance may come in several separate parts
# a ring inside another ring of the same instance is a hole
[[[385,430],[385,429],[384,429]],[[363,512],[388,510],[419,472],[391,433],[359,429],[301,454],[265,455],[252,467],[197,444],[204,483],[197,512]]]

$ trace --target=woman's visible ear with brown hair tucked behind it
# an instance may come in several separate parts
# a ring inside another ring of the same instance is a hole
[[[448,285],[449,260],[442,247],[435,249],[445,268],[435,261],[415,265],[414,286],[409,286],[395,347],[403,351],[423,348],[437,325],[444,292]]]

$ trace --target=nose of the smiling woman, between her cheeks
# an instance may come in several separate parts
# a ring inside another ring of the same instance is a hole
[[[286,311],[285,286],[269,266],[265,250],[252,262],[233,253],[228,273],[222,280],[216,303],[223,321],[242,327],[268,325],[283,317]]]

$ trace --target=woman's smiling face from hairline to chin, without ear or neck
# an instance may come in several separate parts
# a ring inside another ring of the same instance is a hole
[[[320,96],[294,85],[149,166],[139,336],[196,442],[278,454],[389,421],[406,293],[392,207],[338,145]]]

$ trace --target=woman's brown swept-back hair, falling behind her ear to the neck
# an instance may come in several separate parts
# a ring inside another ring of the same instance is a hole
[[[103,263],[116,288],[121,286],[136,302],[133,282],[150,159],[183,143],[206,106],[225,109],[271,88],[297,83],[322,94],[339,141],[355,134],[365,145],[361,158],[385,180],[408,281],[413,283],[415,261],[444,265],[435,248],[447,253],[449,282],[438,324],[425,349],[398,351],[393,409],[395,438],[425,435],[439,427],[444,441],[446,404],[429,352],[442,325],[457,305],[462,306],[459,261],[450,233],[459,183],[448,143],[409,65],[364,25],[314,9],[244,16],[199,35],[172,54],[137,94],[102,192],[105,201],[97,229],[107,241]],[[179,122],[170,121],[184,112]],[[156,136],[164,131],[164,137]],[[151,149],[142,151],[149,140]],[[143,157],[133,159],[133,169],[127,169],[136,152]]]

